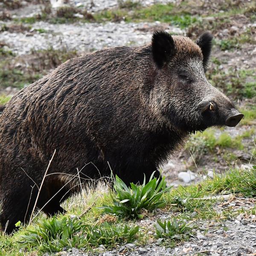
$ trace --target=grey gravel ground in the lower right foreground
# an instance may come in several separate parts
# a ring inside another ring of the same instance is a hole
[[[228,195],[224,201],[215,205],[215,210],[249,209],[255,205],[255,199],[233,198]],[[193,212],[191,215],[196,215]],[[154,217],[139,221],[137,224],[146,228],[149,235],[154,235],[154,225],[160,218],[162,221],[170,219],[177,212],[162,212]],[[178,218],[178,215],[177,215]],[[188,256],[188,255],[211,255],[211,256],[253,256],[256,255],[256,215],[240,214],[233,220],[207,221],[195,220],[195,235],[189,241],[181,242],[175,247],[161,246],[157,239],[149,239],[147,245],[140,247],[135,243],[116,247],[114,250],[106,250],[103,246],[96,248],[94,254],[84,253],[82,250],[72,248],[68,251],[57,253],[62,256]],[[159,245],[158,245],[159,244]],[[44,256],[48,256],[47,253]]]

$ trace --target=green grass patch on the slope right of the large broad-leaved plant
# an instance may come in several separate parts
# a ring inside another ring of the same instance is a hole
[[[196,185],[178,186],[165,195],[167,209],[177,214],[179,219],[221,220],[238,215],[237,212],[218,212],[214,209],[218,199],[215,195],[233,194],[256,198],[256,167],[250,170],[231,169],[224,175],[214,175]]]

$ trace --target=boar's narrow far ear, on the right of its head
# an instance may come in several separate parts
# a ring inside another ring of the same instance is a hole
[[[212,51],[212,35],[209,32],[205,32],[200,35],[195,43],[201,48],[203,53],[203,65],[204,71],[207,70],[207,64]]]

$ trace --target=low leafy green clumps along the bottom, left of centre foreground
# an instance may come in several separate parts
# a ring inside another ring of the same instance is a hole
[[[128,224],[83,224],[78,218],[53,217],[38,221],[34,229],[26,230],[20,236],[23,248],[39,253],[59,252],[66,248],[97,248],[103,244],[111,248],[116,244],[129,243],[137,239],[139,226]]]

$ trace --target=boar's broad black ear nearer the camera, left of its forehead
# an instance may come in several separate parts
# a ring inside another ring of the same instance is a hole
[[[165,31],[156,31],[152,36],[152,54],[157,67],[162,68],[175,53],[172,36]]]

